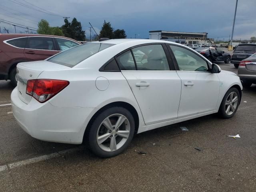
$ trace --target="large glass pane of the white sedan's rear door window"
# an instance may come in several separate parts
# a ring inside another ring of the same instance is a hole
[[[132,49],[138,70],[170,70],[162,45],[145,45]]]

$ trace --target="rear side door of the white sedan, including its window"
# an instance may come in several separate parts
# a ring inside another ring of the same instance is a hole
[[[139,46],[116,57],[146,125],[178,117],[181,80],[175,70],[170,70],[174,66],[163,46]]]

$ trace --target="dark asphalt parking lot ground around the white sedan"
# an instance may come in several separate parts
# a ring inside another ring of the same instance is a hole
[[[218,64],[237,71],[232,64]],[[0,105],[10,103],[11,91],[9,81],[0,81]],[[102,159],[83,145],[32,138],[8,114],[11,106],[0,106],[0,191],[254,192],[255,109],[253,85],[244,88],[231,119],[213,114],[137,134],[123,154]],[[227,136],[236,134],[241,138]],[[33,162],[53,153],[57,155]]]

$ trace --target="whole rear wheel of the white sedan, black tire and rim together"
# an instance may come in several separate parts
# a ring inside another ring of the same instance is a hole
[[[122,118],[121,122],[125,120],[118,127],[119,118]],[[106,124],[108,126],[105,126]],[[132,141],[134,130],[135,122],[130,111],[123,107],[111,107],[94,117],[87,135],[87,142],[90,150],[96,156],[110,158],[122,153],[128,147]],[[126,132],[126,137],[120,136],[124,132]]]

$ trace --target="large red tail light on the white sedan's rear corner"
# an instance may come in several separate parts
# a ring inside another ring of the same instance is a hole
[[[32,79],[27,82],[26,94],[43,103],[63,90],[68,84],[69,82],[65,80]]]

